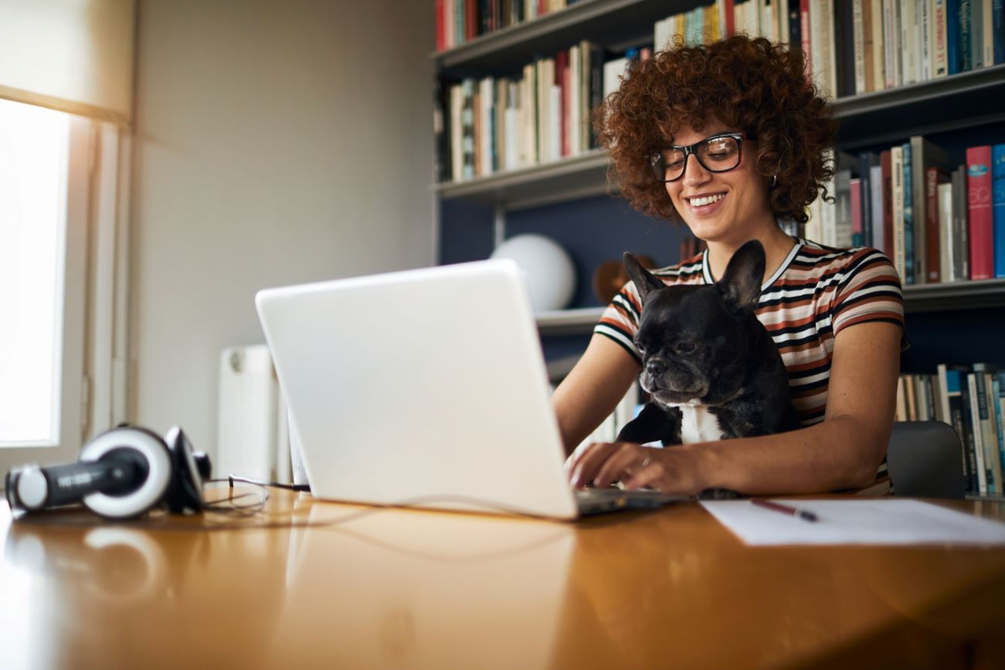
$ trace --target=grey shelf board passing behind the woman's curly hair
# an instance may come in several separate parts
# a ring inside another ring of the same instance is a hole
[[[965,117],[959,117],[961,106]],[[842,97],[834,102],[834,114],[841,120],[839,147],[846,151],[903,142],[906,114],[911,115],[910,135],[1005,122],[1005,65]],[[445,200],[474,205],[538,207],[616,192],[607,183],[607,153],[595,149],[554,163],[437,184],[435,190]]]

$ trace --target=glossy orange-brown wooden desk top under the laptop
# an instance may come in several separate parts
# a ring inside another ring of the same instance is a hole
[[[1002,548],[747,547],[695,504],[290,526],[359,509],[273,492],[277,527],[207,532],[3,504],[0,668],[1005,667]]]

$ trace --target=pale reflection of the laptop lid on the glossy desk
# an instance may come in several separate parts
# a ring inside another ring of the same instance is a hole
[[[322,503],[310,520],[352,513]],[[545,667],[574,537],[564,523],[419,510],[293,528],[268,665]]]

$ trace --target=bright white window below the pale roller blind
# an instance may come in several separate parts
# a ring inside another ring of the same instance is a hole
[[[0,466],[80,446],[91,123],[0,99]]]

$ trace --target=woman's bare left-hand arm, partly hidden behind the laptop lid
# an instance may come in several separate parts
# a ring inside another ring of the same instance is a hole
[[[614,411],[639,370],[635,359],[619,345],[604,336],[593,336],[576,367],[552,396],[567,454]]]

